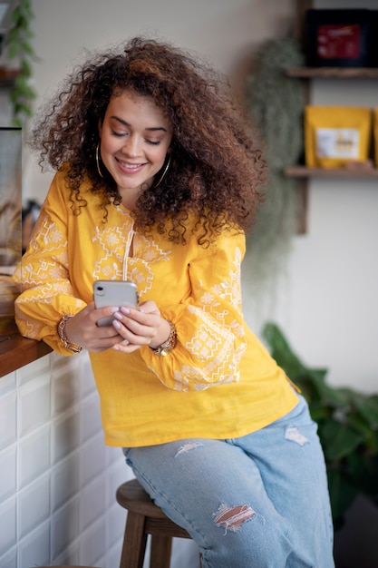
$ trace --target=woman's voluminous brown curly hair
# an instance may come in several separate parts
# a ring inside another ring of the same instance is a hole
[[[103,196],[105,222],[107,206],[121,201],[111,176],[100,176],[95,155],[99,122],[111,97],[124,90],[149,96],[173,131],[170,171],[158,187],[141,192],[133,211],[136,227],[145,234],[155,227],[185,243],[191,215],[203,245],[225,228],[248,230],[266,181],[250,118],[227,79],[208,64],[141,37],[92,54],[36,117],[29,144],[42,168],[47,163],[58,170],[68,162],[73,212],[86,206],[80,195],[85,178]]]

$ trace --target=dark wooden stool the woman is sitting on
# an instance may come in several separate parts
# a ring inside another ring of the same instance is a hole
[[[154,504],[137,479],[119,486],[116,499],[127,509],[120,568],[142,568],[151,534],[150,568],[170,568],[172,537],[191,538]]]

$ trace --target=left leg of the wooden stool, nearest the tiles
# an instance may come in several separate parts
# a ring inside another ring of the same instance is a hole
[[[144,533],[144,514],[127,514],[120,568],[142,568],[146,552],[147,534]]]

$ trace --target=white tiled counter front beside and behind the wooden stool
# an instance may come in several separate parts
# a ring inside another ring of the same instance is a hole
[[[118,568],[126,512],[115,491],[131,477],[104,445],[86,353],[0,377],[0,568]],[[196,566],[197,547],[175,541],[171,568]]]

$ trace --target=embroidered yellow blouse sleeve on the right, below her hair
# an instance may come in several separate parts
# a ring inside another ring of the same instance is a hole
[[[178,331],[167,357],[143,349],[141,356],[166,387],[203,390],[239,380],[246,345],[241,315],[240,264],[244,235],[227,233],[190,260],[189,297],[162,308]]]

